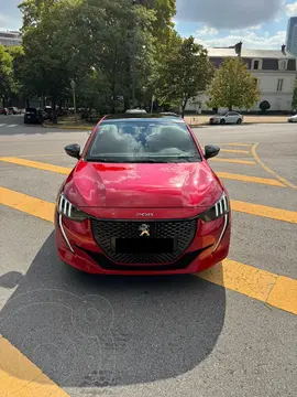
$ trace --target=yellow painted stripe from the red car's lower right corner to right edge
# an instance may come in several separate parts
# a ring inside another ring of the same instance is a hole
[[[226,259],[197,277],[297,314],[297,280]]]

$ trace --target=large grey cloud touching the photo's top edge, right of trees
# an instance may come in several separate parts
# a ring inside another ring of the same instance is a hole
[[[240,29],[271,21],[284,0],[177,0],[177,19],[216,29]]]

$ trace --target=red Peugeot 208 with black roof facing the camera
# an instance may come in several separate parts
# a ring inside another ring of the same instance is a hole
[[[179,118],[107,116],[63,183],[55,232],[61,259],[112,275],[195,273],[224,259],[228,194]]]

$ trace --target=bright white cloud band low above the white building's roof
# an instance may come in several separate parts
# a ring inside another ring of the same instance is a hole
[[[202,44],[205,47],[213,46],[230,46],[234,45],[239,41],[243,42],[245,49],[262,49],[262,50],[273,50],[280,49],[282,44],[286,41],[286,31],[276,32],[276,34],[270,34],[265,32],[263,34],[256,34],[253,31],[248,29],[238,30],[235,32],[230,32],[226,36],[209,36],[201,37],[196,36],[196,42]]]

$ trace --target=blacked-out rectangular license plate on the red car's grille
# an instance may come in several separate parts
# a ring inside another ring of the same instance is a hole
[[[172,254],[174,238],[114,238],[111,240],[116,254]]]

